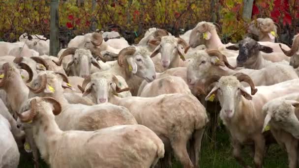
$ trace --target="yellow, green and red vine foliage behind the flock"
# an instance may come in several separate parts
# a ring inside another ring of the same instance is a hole
[[[237,42],[251,22],[242,19],[243,5],[243,0],[60,0],[60,43],[95,29],[116,30],[137,43],[148,28],[179,35],[200,21],[219,24],[224,43]],[[0,0],[0,16],[2,41],[15,42],[24,32],[49,38],[50,0]],[[279,40],[290,44],[299,32],[299,0],[254,0],[251,19],[259,17],[278,23]]]

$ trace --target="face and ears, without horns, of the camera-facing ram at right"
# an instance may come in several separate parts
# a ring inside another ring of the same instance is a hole
[[[219,82],[212,88],[206,100],[210,97],[217,96],[220,105],[220,117],[222,119],[232,118],[235,115],[236,107],[238,107],[242,96],[251,100],[251,95],[240,84],[239,80],[234,76],[223,76]]]

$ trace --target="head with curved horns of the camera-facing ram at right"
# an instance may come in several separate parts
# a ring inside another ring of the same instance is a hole
[[[254,95],[257,92],[251,78],[245,74],[238,73],[234,76],[220,76],[214,78],[214,80],[209,81],[209,83],[214,83],[215,86],[209,92],[206,100],[208,101],[211,97],[217,96],[220,105],[220,117],[222,118],[231,118],[234,116],[235,109],[237,108],[239,102],[245,98],[251,100],[251,95]],[[247,82],[251,87],[251,95],[247,92],[245,87],[241,82]],[[205,84],[209,85],[209,84]]]

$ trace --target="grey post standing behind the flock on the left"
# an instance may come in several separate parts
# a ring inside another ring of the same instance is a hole
[[[57,56],[59,51],[59,0],[51,0],[50,12],[50,56]]]

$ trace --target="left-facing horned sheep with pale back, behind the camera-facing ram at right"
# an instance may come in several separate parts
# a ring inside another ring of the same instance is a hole
[[[217,50],[196,51],[190,54],[197,58],[189,62],[187,67],[187,80],[189,86],[194,86],[197,82],[208,78],[211,75],[228,76],[238,72],[244,73],[253,80],[256,85],[272,85],[280,82],[298,79],[298,75],[289,65],[271,64],[265,68],[235,69],[226,57]],[[246,86],[246,85],[245,85]]]

